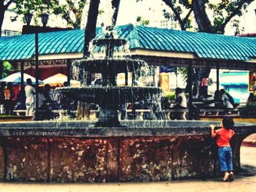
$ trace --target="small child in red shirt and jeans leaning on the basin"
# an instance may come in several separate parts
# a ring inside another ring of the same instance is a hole
[[[230,139],[235,132],[231,129],[234,126],[233,118],[225,117],[220,123],[221,128],[214,130],[215,126],[211,125],[211,137],[217,137],[219,164],[222,172],[224,172],[223,181],[233,181],[233,164],[232,149],[230,147]]]

